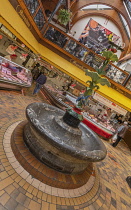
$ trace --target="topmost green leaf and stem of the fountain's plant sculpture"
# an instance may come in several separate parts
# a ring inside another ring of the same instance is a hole
[[[108,65],[109,62],[115,62],[118,61],[117,55],[114,54],[114,52],[110,50],[105,50],[101,52],[102,56],[106,58],[103,62],[103,66],[100,69],[97,69],[97,72],[99,75],[105,75],[106,72],[104,71],[105,67]]]

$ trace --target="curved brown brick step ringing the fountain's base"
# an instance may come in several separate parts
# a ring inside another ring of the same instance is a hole
[[[84,185],[86,191],[89,191],[96,181],[98,182],[98,171],[93,163],[89,163],[88,168],[82,173],[69,175],[53,170],[40,162],[24,143],[23,129],[26,124],[25,120],[15,127],[11,135],[11,148],[17,161],[32,179],[60,189],[78,189]]]

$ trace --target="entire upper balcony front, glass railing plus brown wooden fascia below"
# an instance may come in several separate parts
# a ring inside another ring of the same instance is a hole
[[[23,21],[30,24],[30,30],[41,44],[48,46],[49,49],[77,65],[83,71],[85,69],[96,71],[102,67],[105,58],[91,49],[94,39],[90,37],[85,46],[61,30],[60,27],[58,28],[57,23],[56,25],[50,23],[41,0],[10,0],[10,2]],[[96,44],[96,47],[100,46]],[[95,49],[95,51],[97,50]],[[111,62],[106,66],[105,72],[105,77],[111,82],[112,88],[131,98],[131,75]]]

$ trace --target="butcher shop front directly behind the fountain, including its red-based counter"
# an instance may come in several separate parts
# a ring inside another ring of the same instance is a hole
[[[51,104],[63,110],[74,107],[77,104],[77,97],[83,92],[85,86],[44,60],[42,65],[48,79],[41,89],[41,93]],[[120,123],[126,120],[127,113],[127,110],[116,103],[95,93],[83,110],[83,123],[100,137],[108,140],[113,136]]]

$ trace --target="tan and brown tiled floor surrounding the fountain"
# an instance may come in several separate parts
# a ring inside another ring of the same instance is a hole
[[[95,164],[99,180],[89,192],[78,197],[63,197],[62,192],[55,196],[48,189],[43,192],[35,187],[33,180],[27,182],[19,174],[21,169],[16,172],[7,158],[7,153],[10,154],[9,143],[3,145],[3,139],[5,136],[8,139],[6,131],[11,129],[11,125],[15,126],[14,123],[25,119],[28,104],[45,101],[30,93],[29,91],[26,96],[22,96],[0,90],[0,210],[131,209],[131,190],[126,182],[126,177],[131,175],[131,153],[124,142],[113,148],[109,142],[104,141],[107,156],[102,162]]]

